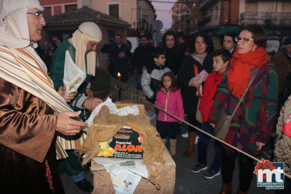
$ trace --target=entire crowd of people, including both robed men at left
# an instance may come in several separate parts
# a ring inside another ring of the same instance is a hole
[[[66,173],[81,190],[92,192],[74,149],[85,138],[81,131],[87,126],[85,110],[102,102],[93,97],[90,84],[102,33],[97,24],[84,22],[71,38],[58,45],[43,43],[37,53],[36,43],[46,24],[39,1],[0,0],[0,4],[1,189],[62,194],[59,173]],[[273,139],[274,161],[285,162],[285,173],[291,175],[291,37],[283,40],[271,60],[266,41],[265,29],[248,26],[238,34],[227,32],[223,48],[214,51],[205,34],[187,41],[183,33],[168,31],[157,48],[142,36],[132,54],[122,36],[115,34],[114,42],[103,45],[101,52],[109,53],[113,77],[120,72],[122,81],[127,81],[132,71],[146,99],[167,111],[159,111],[156,128],[163,143],[169,138],[172,156],[185,115],[190,124],[213,134],[218,113],[224,109],[228,115],[234,113],[226,143],[256,157]],[[63,81],[66,57],[86,73],[78,91],[68,95]],[[252,159],[216,141],[208,168],[210,137],[191,126],[187,134],[184,156],[194,152],[199,135],[192,172],[207,170],[202,174],[205,178],[222,174],[220,194],[231,194],[238,158],[237,193],[248,192],[255,169]],[[276,192],[290,188],[291,181],[285,178],[285,189]]]

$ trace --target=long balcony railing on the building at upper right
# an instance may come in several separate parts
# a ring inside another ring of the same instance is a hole
[[[290,12],[244,12],[241,24],[266,24],[274,26],[291,25]]]

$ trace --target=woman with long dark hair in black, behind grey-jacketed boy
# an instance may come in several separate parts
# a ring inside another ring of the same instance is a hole
[[[175,32],[168,31],[162,36],[162,49],[166,54],[166,63],[165,66],[171,69],[175,75],[177,75],[180,64],[178,52],[178,38]]]

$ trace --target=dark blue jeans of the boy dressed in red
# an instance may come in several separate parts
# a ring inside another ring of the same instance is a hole
[[[213,128],[210,126],[207,122],[202,122],[201,129],[203,129],[205,132],[208,132],[213,135],[214,131]],[[198,139],[198,162],[202,165],[207,165],[207,148],[210,142],[210,137],[205,135],[204,133],[199,134]],[[215,141],[214,143],[214,150],[215,155],[213,158],[213,161],[210,166],[210,170],[214,172],[218,172],[221,166],[221,160],[222,160],[222,146],[218,141]]]

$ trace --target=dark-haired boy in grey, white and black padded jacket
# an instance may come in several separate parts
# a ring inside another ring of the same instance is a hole
[[[160,90],[160,82],[162,75],[171,71],[165,67],[166,56],[162,49],[154,49],[152,53],[152,64],[149,65],[142,76],[142,89],[146,95],[146,99],[152,103],[156,100],[157,92]]]

